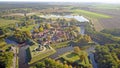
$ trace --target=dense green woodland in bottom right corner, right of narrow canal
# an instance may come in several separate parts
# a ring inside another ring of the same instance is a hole
[[[113,47],[113,49],[111,49]],[[104,45],[97,46],[95,52],[95,59],[98,62],[100,68],[118,68],[119,62],[117,62],[118,57],[116,57],[116,53],[119,51],[115,51],[118,49],[117,45]]]

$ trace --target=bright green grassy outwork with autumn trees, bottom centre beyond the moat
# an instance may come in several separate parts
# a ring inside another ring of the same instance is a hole
[[[77,62],[80,65],[90,65],[89,59],[88,59],[88,55],[87,55],[87,53],[85,51],[81,51],[79,53],[79,55],[85,55],[84,59],[81,60],[80,56],[78,56],[77,54],[73,53],[72,51],[63,54],[60,57],[62,57],[63,59],[65,59],[66,61],[68,61],[70,63]]]

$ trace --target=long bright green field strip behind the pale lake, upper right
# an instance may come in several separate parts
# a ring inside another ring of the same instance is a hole
[[[111,16],[109,16],[109,15],[94,13],[94,12],[85,11],[85,10],[76,9],[76,10],[72,10],[72,12],[75,14],[85,15],[85,16],[90,17],[90,18],[111,18]]]

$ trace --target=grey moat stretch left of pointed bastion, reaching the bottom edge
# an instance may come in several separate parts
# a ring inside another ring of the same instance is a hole
[[[25,62],[26,60],[26,48],[28,46],[19,48],[19,68],[28,68],[28,64]]]

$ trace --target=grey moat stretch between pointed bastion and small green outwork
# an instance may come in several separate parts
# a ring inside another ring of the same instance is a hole
[[[69,51],[72,51],[73,49],[74,48],[72,46],[57,49],[56,53],[51,55],[49,58],[57,59],[59,57],[59,55],[62,55],[62,54],[66,53],[66,52],[69,52]]]

